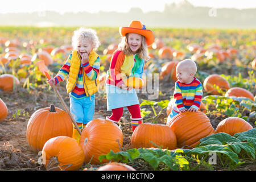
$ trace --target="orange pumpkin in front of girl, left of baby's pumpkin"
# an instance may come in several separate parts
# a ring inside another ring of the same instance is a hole
[[[152,123],[142,123],[136,127],[131,135],[132,148],[157,146],[168,148],[168,150],[173,150],[177,147],[176,136],[170,127]]]

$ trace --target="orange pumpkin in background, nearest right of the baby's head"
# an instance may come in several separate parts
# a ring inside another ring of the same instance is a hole
[[[224,92],[229,89],[229,82],[220,75],[213,74],[205,78],[203,84],[205,91],[209,94],[220,95],[221,93],[214,88],[214,85],[218,86]]]

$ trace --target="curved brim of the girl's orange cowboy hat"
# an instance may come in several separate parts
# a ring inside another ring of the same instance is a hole
[[[125,36],[128,33],[140,34],[146,38],[147,46],[150,46],[152,43],[154,43],[154,34],[151,30],[132,27],[120,27],[119,33],[121,36]]]

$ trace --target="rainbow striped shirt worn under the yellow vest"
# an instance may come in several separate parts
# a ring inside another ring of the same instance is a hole
[[[57,75],[55,76],[56,85],[68,76],[69,68],[71,65],[71,57],[72,53],[69,55],[68,60],[65,62],[63,67],[60,68],[59,73],[57,73]],[[84,69],[86,75],[89,77],[90,80],[96,80],[100,71],[100,57],[97,57],[92,67],[89,64],[89,61],[85,64],[81,64],[76,86],[70,93],[71,96],[75,98],[87,97],[84,90],[84,84],[82,82],[82,69]]]

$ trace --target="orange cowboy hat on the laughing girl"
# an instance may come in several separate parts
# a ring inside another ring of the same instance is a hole
[[[145,25],[139,20],[131,21],[129,27],[119,27],[119,33],[121,36],[125,36],[128,33],[143,35],[146,38],[147,46],[150,46],[154,42],[153,32],[151,30],[147,30]]]

